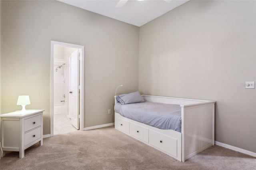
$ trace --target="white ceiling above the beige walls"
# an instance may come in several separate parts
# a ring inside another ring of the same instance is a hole
[[[58,1],[140,27],[189,0],[128,0],[121,8],[115,7],[119,0]]]

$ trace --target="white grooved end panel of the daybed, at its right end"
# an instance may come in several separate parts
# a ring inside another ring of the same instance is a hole
[[[182,107],[182,162],[214,145],[214,103]]]

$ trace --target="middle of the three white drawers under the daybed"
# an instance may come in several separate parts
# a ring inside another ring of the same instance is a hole
[[[148,143],[148,128],[130,123],[130,135]]]

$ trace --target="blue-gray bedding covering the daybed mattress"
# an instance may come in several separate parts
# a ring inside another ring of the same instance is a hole
[[[181,132],[180,105],[164,103],[116,103],[114,110],[123,117],[160,129],[171,129]]]

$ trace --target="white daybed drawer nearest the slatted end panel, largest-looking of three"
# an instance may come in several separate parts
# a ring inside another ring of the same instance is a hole
[[[177,157],[177,139],[149,130],[149,144]]]

